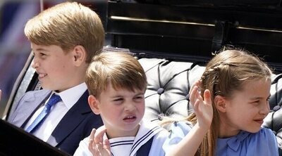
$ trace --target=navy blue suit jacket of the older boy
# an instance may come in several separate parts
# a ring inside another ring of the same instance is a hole
[[[49,98],[51,91],[29,91],[20,99],[14,112],[8,117],[8,122],[18,127],[25,127],[28,120],[42,103]],[[47,143],[73,155],[80,141],[90,135],[92,128],[103,125],[100,115],[95,115],[90,109],[85,91],[77,103],[73,105],[52,132]]]

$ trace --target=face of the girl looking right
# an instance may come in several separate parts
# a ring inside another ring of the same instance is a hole
[[[225,123],[221,124],[225,128],[221,129],[221,134],[238,134],[240,130],[255,133],[269,113],[271,81],[260,79],[243,85],[243,91],[235,91],[232,98],[226,101]]]

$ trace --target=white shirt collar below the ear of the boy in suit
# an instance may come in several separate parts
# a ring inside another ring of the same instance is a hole
[[[71,109],[78,99],[82,96],[83,93],[87,90],[87,85],[85,82],[82,84],[78,84],[78,86],[73,86],[71,89],[67,89],[66,91],[62,91],[58,94],[63,103],[66,105],[66,108]]]

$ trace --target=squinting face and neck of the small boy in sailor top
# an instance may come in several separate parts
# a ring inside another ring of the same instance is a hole
[[[108,84],[96,101],[109,138],[137,134],[145,113],[144,91],[115,90]]]

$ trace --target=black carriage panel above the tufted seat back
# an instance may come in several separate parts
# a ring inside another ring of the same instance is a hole
[[[234,4],[111,1],[106,32],[111,46],[175,56],[209,59],[232,45],[257,53],[281,70],[281,8],[273,2]]]

